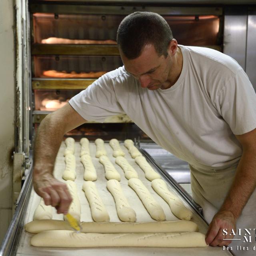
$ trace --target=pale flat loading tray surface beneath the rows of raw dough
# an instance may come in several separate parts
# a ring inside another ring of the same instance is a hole
[[[113,150],[110,147],[109,143],[105,141],[104,143],[107,156],[120,174],[121,180],[120,185],[122,187],[122,190],[124,194],[126,195],[126,198],[128,202],[130,203],[130,206],[134,209],[136,212],[136,222],[155,222],[150,216],[150,214],[147,212],[146,208],[142,204],[142,201],[138,198],[137,194],[132,190],[130,186],[128,186],[128,180],[124,176],[124,171],[122,168],[115,163],[115,158],[112,156]],[[151,182],[145,178],[144,171],[136,164],[135,160],[130,156],[128,153],[127,148],[124,146],[123,143],[120,143],[121,149],[125,153],[125,158],[129,162],[129,164],[136,170],[138,173],[138,178],[142,181],[144,186],[149,190],[150,194],[153,196],[153,198],[160,204],[162,209],[164,210],[164,214],[166,216],[166,221],[175,221],[179,220],[174,214],[172,214],[170,210],[170,206],[160,197],[155,190],[151,187]],[[96,145],[94,142],[91,142],[90,145],[90,156],[92,158],[92,162],[94,164],[94,167],[96,169],[97,173],[97,180],[94,181],[94,184],[96,185],[96,188],[98,189],[98,193],[100,194],[100,197],[102,198],[102,201],[104,202],[106,206],[106,210],[110,216],[110,222],[121,222],[118,218],[118,214],[116,211],[116,205],[114,202],[114,198],[112,194],[108,191],[106,188],[106,182],[107,179],[105,178],[105,170],[104,166],[99,162],[99,158],[96,158]],[[65,158],[64,158],[64,150],[65,150],[65,144],[62,142],[62,145],[60,146],[60,150],[58,152],[56,163],[54,167],[54,176],[58,178],[59,180],[62,179],[62,173],[65,169]],[[81,203],[81,222],[93,222],[92,214],[90,211],[90,206],[88,203],[88,200],[86,199],[86,196],[84,194],[84,191],[82,190],[82,185],[84,183],[84,166],[80,162],[80,150],[81,145],[79,142],[75,142],[75,152],[74,155],[76,157],[76,179],[75,183],[78,190],[78,197]],[[141,151],[142,152],[142,151]],[[143,154],[143,152],[142,152]],[[146,155],[145,155],[146,156]],[[198,210],[194,207],[194,205],[188,201],[188,199],[180,193],[179,188],[173,184],[170,179],[167,177],[166,173],[162,172],[160,168],[158,168],[157,164],[154,164],[152,160],[149,158],[148,160],[149,164],[154,168],[156,172],[158,172],[162,178],[167,183],[168,190],[170,190],[172,193],[174,193],[182,202],[183,204],[192,211],[192,221],[195,222],[199,227],[199,232],[206,234],[208,224],[204,221],[202,216],[199,214]],[[26,186],[29,186],[31,188],[31,174],[28,176],[26,181]],[[72,256],[77,254],[82,255],[99,255],[104,253],[104,255],[175,255],[175,256],[216,256],[216,255],[231,255],[228,251],[223,251],[220,247],[202,247],[202,248],[149,248],[149,247],[103,247],[103,248],[47,248],[47,247],[33,247],[30,245],[30,239],[32,238],[33,234],[30,234],[28,232],[25,232],[24,230],[24,224],[30,222],[33,220],[34,210],[38,206],[40,202],[40,197],[34,192],[33,188],[30,190],[27,188],[26,193],[27,198],[27,205],[24,205],[24,208],[18,208],[22,212],[20,214],[23,215],[23,218],[20,218],[22,222],[20,223],[20,228],[15,232],[18,237],[16,236],[15,240],[15,246],[10,252],[11,254],[1,254],[0,255],[19,255],[19,256],[28,256],[28,255],[54,255],[54,256]],[[23,195],[24,196],[24,195]],[[24,219],[24,221],[23,221]],[[53,219],[55,220],[63,220],[63,214],[57,214],[55,208],[53,208]],[[11,224],[12,225],[12,224]],[[14,232],[13,230],[8,231]],[[6,241],[6,240],[5,240]],[[7,251],[7,250],[5,250]]]

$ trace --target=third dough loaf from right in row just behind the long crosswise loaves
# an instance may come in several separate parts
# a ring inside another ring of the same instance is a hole
[[[136,213],[128,203],[121,185],[117,180],[108,180],[107,188],[116,202],[116,211],[120,220],[124,222],[135,222]]]

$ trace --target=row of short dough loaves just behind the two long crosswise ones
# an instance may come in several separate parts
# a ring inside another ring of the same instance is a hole
[[[80,221],[81,205],[76,184],[71,180],[66,181],[66,184],[73,199],[70,204],[69,213],[72,214],[76,220]],[[162,207],[156,202],[141,180],[138,178],[131,178],[128,180],[128,184],[136,192],[146,210],[154,220],[163,221],[166,219]],[[178,197],[168,190],[167,185],[163,180],[156,179],[153,180],[151,184],[152,188],[154,188],[154,190],[169,204],[172,213],[176,217],[181,220],[190,220],[192,218],[192,212],[184,206]],[[135,222],[136,213],[128,203],[120,183],[114,179],[108,180],[107,188],[115,200],[116,210],[120,220],[124,222]],[[110,216],[100,198],[95,183],[92,181],[85,181],[83,190],[90,204],[93,220],[95,222],[109,222]],[[52,207],[46,206],[41,199],[40,204],[34,212],[34,220],[43,219],[52,219]]]

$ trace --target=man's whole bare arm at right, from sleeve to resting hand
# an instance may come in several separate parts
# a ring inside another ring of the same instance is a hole
[[[236,230],[236,220],[256,188],[256,129],[236,135],[242,144],[243,153],[236,169],[234,182],[220,210],[215,214],[206,235],[206,243],[211,246],[228,245],[233,236],[222,234],[224,228],[230,234]]]

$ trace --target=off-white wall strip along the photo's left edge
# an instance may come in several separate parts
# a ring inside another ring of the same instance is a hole
[[[14,151],[13,1],[0,0],[0,244],[12,218]]]

